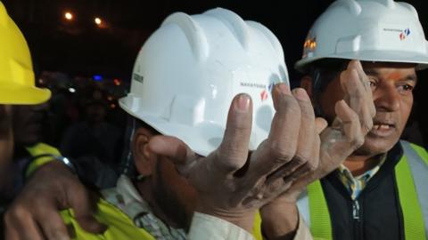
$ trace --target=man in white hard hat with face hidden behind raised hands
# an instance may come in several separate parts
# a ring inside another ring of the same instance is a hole
[[[82,230],[71,210],[62,219],[77,239],[261,238],[254,216],[262,205],[333,170],[362,144],[361,126],[372,120],[358,116],[370,116],[373,102],[353,80],[347,98],[369,101],[339,100],[336,122],[325,128],[306,92],[290,91],[268,28],[224,9],[172,14],[139,52],[131,92],[120,100],[134,117],[136,176],[102,191],[95,218],[108,226],[103,235]],[[55,238],[65,227],[46,229],[34,235]]]

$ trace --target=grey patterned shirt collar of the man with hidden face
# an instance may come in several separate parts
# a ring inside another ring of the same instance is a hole
[[[131,180],[125,175],[119,177],[116,188],[102,191],[109,203],[125,212],[138,228],[144,228],[156,239],[185,239],[185,230],[170,228],[153,213],[147,202],[140,196]]]

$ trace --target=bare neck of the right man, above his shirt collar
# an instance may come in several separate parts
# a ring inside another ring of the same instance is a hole
[[[353,176],[359,176],[374,168],[381,161],[381,156],[349,156],[343,164]]]

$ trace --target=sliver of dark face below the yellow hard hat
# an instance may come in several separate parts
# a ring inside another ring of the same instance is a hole
[[[11,162],[13,152],[11,107],[0,105],[0,185],[7,165]]]

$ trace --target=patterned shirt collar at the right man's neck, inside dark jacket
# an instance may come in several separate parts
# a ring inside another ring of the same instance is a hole
[[[379,169],[381,168],[385,160],[386,154],[382,156],[381,161],[379,161],[379,164],[376,164],[374,168],[356,177],[352,175],[350,170],[345,165],[341,164],[339,166],[339,168],[337,169],[337,175],[339,177],[339,180],[342,181],[343,185],[350,192],[350,197],[352,198],[352,200],[357,199],[361,191],[366,188],[367,182],[373,178],[374,174],[379,172]]]

